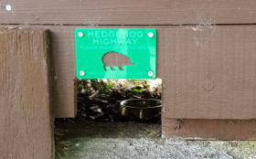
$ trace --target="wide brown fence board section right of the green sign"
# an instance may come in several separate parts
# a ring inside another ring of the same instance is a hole
[[[166,66],[158,67],[166,117],[256,118],[256,26],[176,26],[165,34],[158,55]]]

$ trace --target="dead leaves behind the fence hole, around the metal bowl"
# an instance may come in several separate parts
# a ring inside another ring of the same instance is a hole
[[[122,84],[119,80],[79,80],[78,113],[72,121],[144,122],[122,116],[120,102],[128,99],[161,100],[161,88],[152,89],[147,80],[125,82]],[[160,119],[161,114],[157,114],[146,122],[159,123]]]

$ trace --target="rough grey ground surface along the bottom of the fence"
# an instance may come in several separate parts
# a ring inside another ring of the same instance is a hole
[[[160,125],[135,122],[58,122],[57,159],[256,159],[256,142],[162,139]]]

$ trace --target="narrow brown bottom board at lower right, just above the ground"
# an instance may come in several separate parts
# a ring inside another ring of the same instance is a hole
[[[182,120],[165,118],[164,137],[194,140],[256,140],[255,120]]]

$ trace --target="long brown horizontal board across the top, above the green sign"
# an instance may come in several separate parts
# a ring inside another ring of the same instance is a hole
[[[5,5],[12,10],[6,11]],[[1,24],[255,24],[254,0],[2,0]]]

